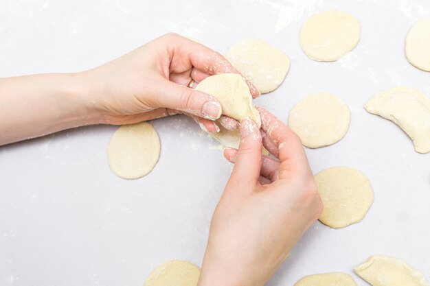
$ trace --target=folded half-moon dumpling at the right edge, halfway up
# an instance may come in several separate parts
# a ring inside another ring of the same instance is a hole
[[[402,128],[414,141],[416,152],[430,152],[430,99],[424,93],[408,87],[388,88],[364,107]]]

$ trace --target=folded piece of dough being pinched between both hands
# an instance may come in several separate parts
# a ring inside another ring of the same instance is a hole
[[[238,121],[252,119],[260,128],[260,112],[253,107],[249,86],[241,75],[236,73],[212,75],[197,84],[196,91],[203,91],[218,99],[223,108],[223,115]]]

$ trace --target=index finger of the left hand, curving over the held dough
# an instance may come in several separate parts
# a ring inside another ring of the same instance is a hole
[[[207,75],[218,75],[220,73],[240,74],[240,72],[235,69],[226,58],[221,56],[220,53],[183,36],[171,36],[175,37],[173,43],[176,43],[176,45],[172,47],[173,51],[170,51],[170,54],[173,56],[179,55],[179,57],[182,58],[182,63],[183,60],[189,60],[193,67],[196,67],[196,69]],[[186,57],[184,58],[184,56]],[[173,62],[173,60],[171,62]],[[258,97],[260,91],[258,91],[256,86],[249,80],[247,80],[247,84],[252,97]]]

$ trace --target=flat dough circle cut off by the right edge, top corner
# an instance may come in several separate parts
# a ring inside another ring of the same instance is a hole
[[[406,36],[405,53],[415,67],[430,71],[430,17],[411,27]]]

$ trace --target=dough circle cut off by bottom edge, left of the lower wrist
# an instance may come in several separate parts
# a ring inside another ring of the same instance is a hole
[[[188,261],[167,261],[152,271],[144,286],[196,286],[200,269]]]

